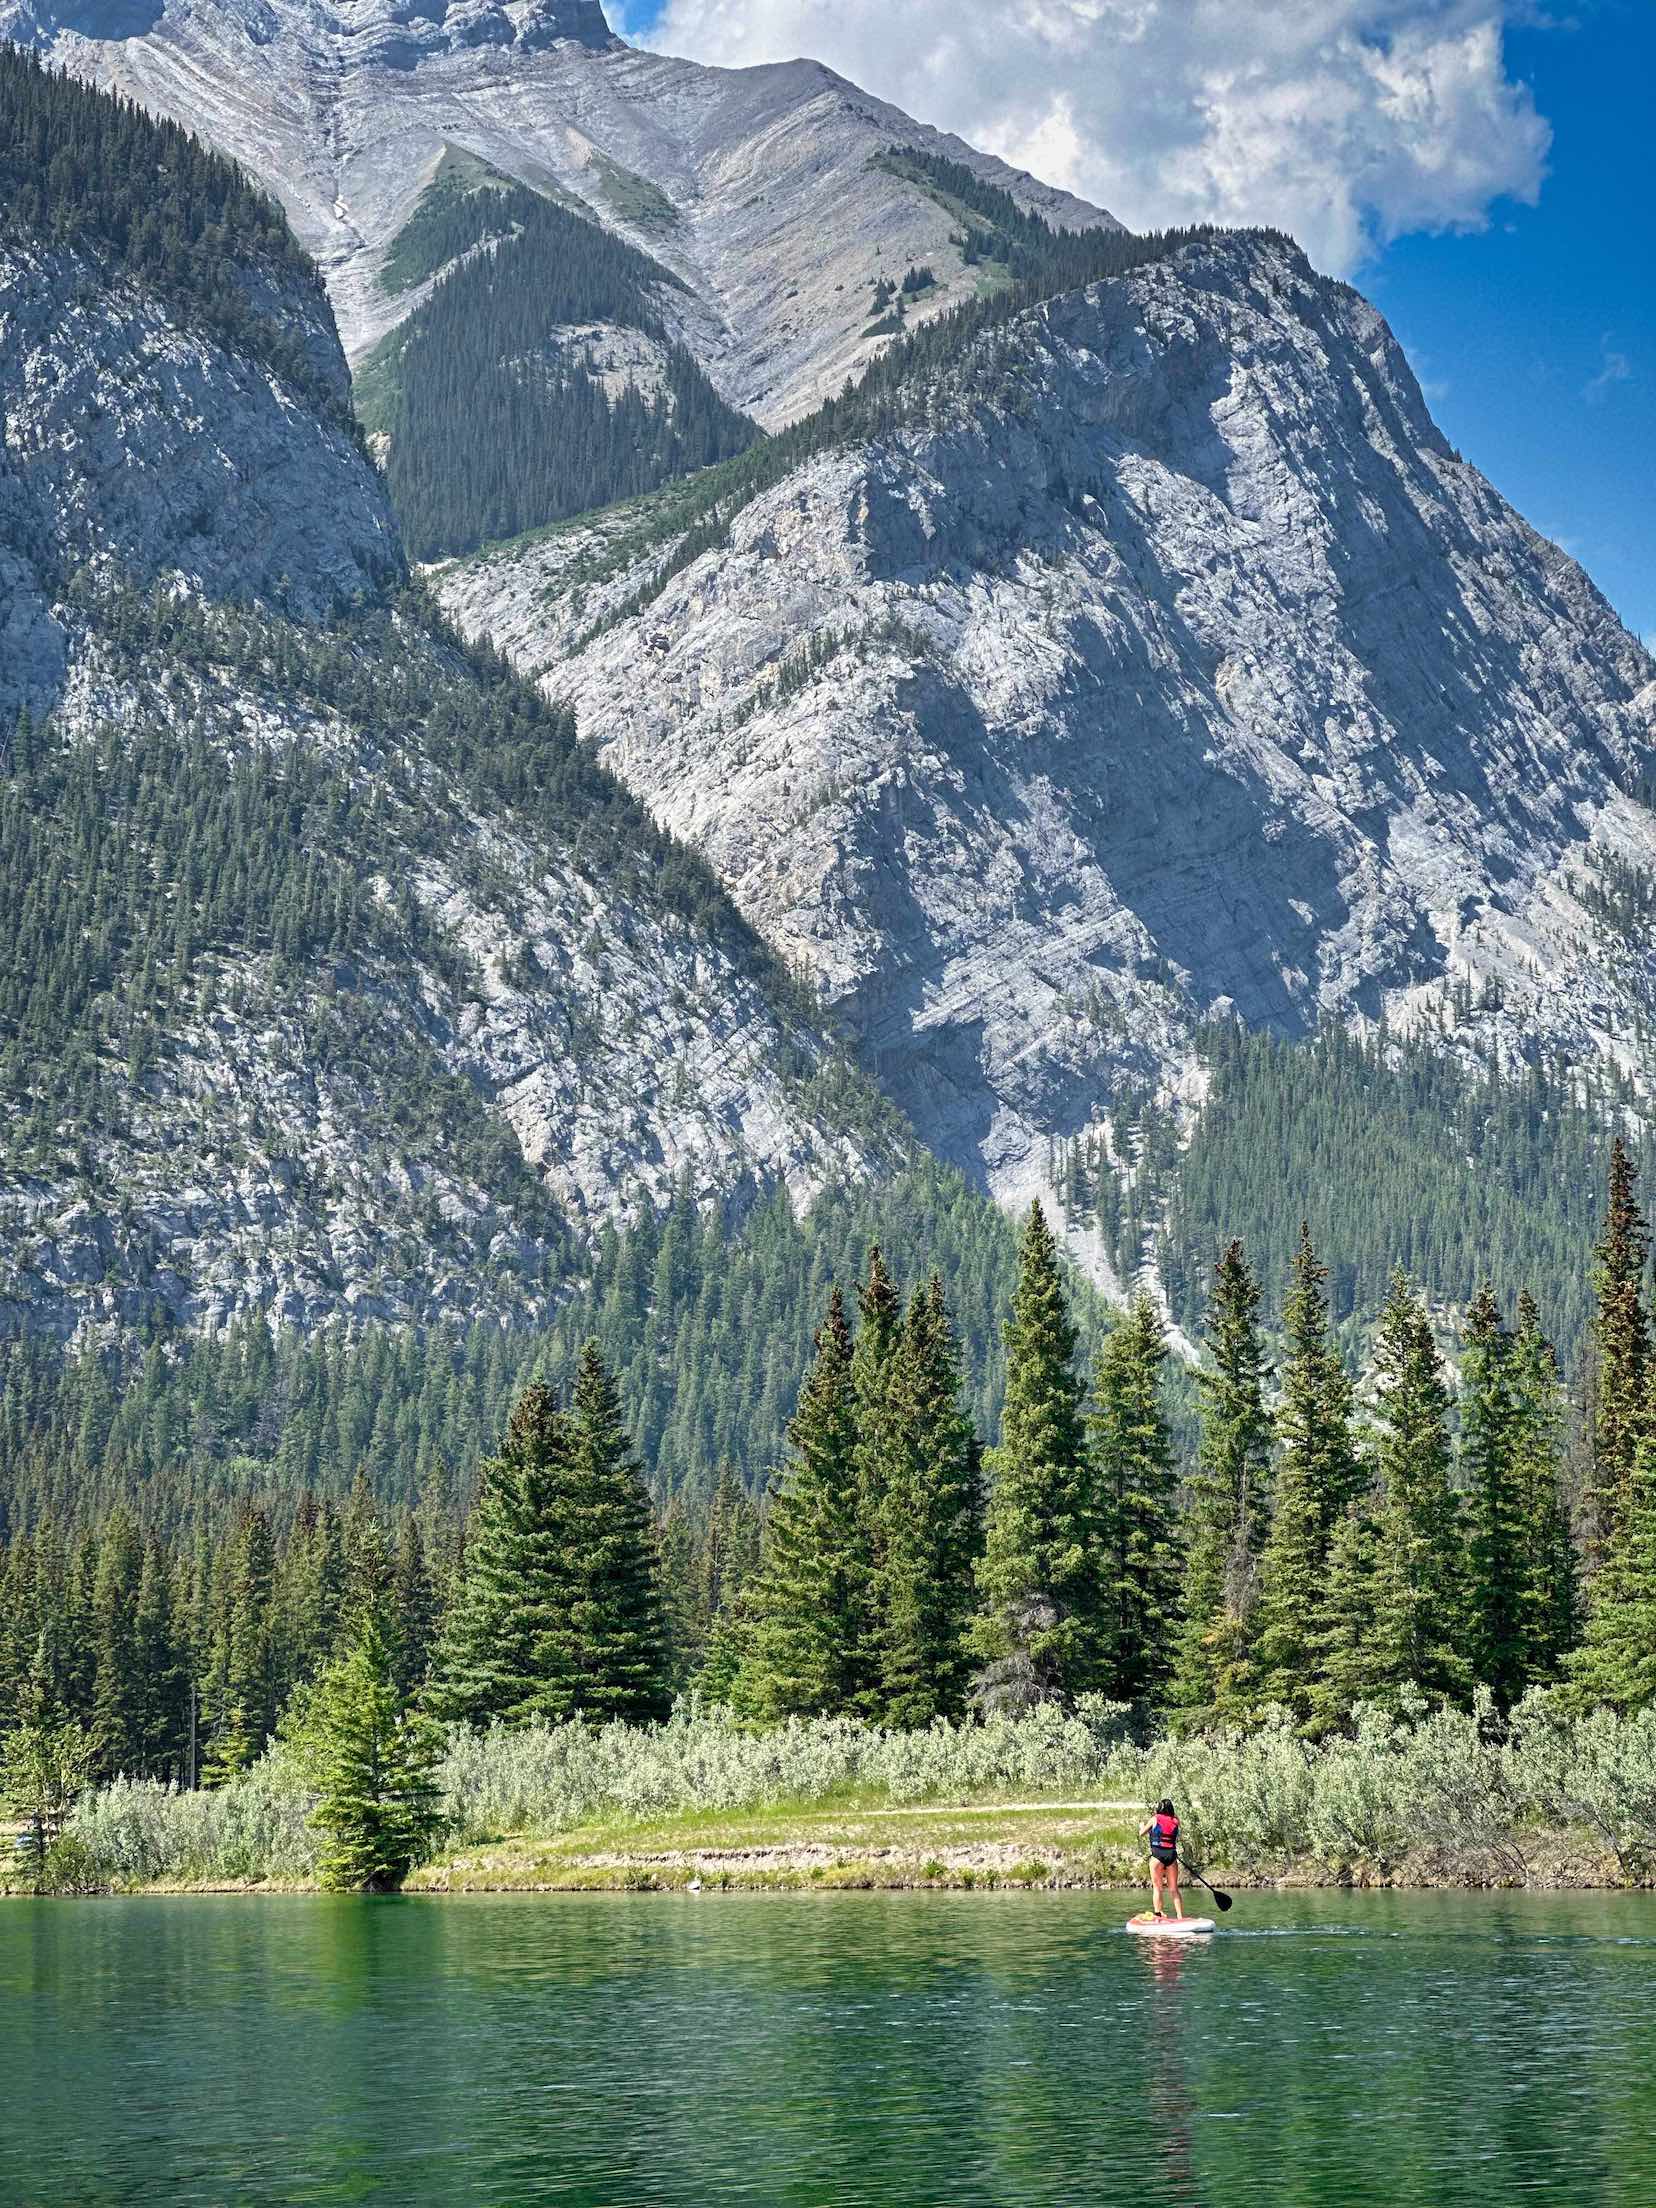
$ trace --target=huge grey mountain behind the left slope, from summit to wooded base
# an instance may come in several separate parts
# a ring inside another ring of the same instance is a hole
[[[1354,1142],[1354,1281],[1572,1263],[1649,1117],[1656,669],[1292,241],[1135,238],[594,9],[0,29],[278,194],[448,616],[941,1157],[1181,1320]]]

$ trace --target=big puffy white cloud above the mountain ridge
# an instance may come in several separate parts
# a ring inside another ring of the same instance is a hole
[[[636,0],[643,4],[643,0]],[[665,0],[665,53],[810,55],[1124,223],[1278,223],[1349,272],[1532,201],[1526,0]]]

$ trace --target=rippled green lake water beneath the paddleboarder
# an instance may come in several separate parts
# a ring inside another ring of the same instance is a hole
[[[1656,2204],[1656,1899],[0,1903],[0,2201]]]

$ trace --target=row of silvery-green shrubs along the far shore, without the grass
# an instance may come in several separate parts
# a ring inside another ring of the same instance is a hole
[[[1172,1795],[1192,1850],[1250,1875],[1294,1868],[1524,1879],[1559,1844],[1656,1864],[1656,1711],[1579,1716],[1528,1696],[1508,1724],[1477,1711],[1360,1711],[1351,1738],[1301,1740],[1285,1716],[1250,1733],[1137,1747],[1119,1705],[1040,1709],[991,1724],[883,1731],[850,1718],[744,1731],[682,1709],[662,1727],[530,1727],[453,1735],[446,1833],[563,1833],[596,1817],[742,1811],[828,1800],[983,1802]],[[309,1797],[283,1747],[216,1793],[117,1782],[71,1830],[115,1886],[291,1879],[314,1872]],[[1592,1864],[1583,1864],[1592,1868]]]

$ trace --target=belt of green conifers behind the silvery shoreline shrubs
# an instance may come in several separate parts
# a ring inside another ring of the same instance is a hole
[[[698,1234],[693,1206],[669,1219],[658,1283],[696,1265]],[[901,1276],[874,1245],[817,1296],[779,1459],[669,1493],[601,1342],[567,1331],[532,1371],[499,1336],[457,1349],[400,1437],[380,1426],[391,1342],[307,1367],[250,1325],[188,1404],[155,1345],[124,1402],[82,1391],[77,1446],[128,1453],[102,1493],[18,1477],[51,1380],[13,1367],[9,1766],[68,1771],[66,1795],[214,1786],[296,1711],[322,1762],[378,1727],[406,1758],[406,1846],[344,1811],[329,1846],[340,1881],[395,1883],[444,1724],[651,1722],[689,1689],[751,1724],[1104,1698],[1153,1729],[1287,1713],[1325,1738],[1422,1698],[1484,1696],[1495,1720],[1532,1687],[1623,1713],[1656,1698],[1649,1230],[1621,1142],[1574,1400],[1528,1294],[1479,1289],[1451,1345],[1402,1272],[1354,1369],[1303,1228],[1281,1294],[1241,1243],[1219,1252],[1186,1446],[1157,1305],[1084,1351],[1086,1298],[1040,1208],[1016,1259],[956,1230],[949,1263],[974,1325],[998,1292],[994,1420],[943,1274]],[[294,1415],[296,1382],[329,1395],[325,1418]],[[146,1448],[181,1415],[250,1446],[179,1482]],[[464,1477],[442,1451],[417,1477],[424,1420]],[[353,1848],[391,1870],[358,1877]]]

